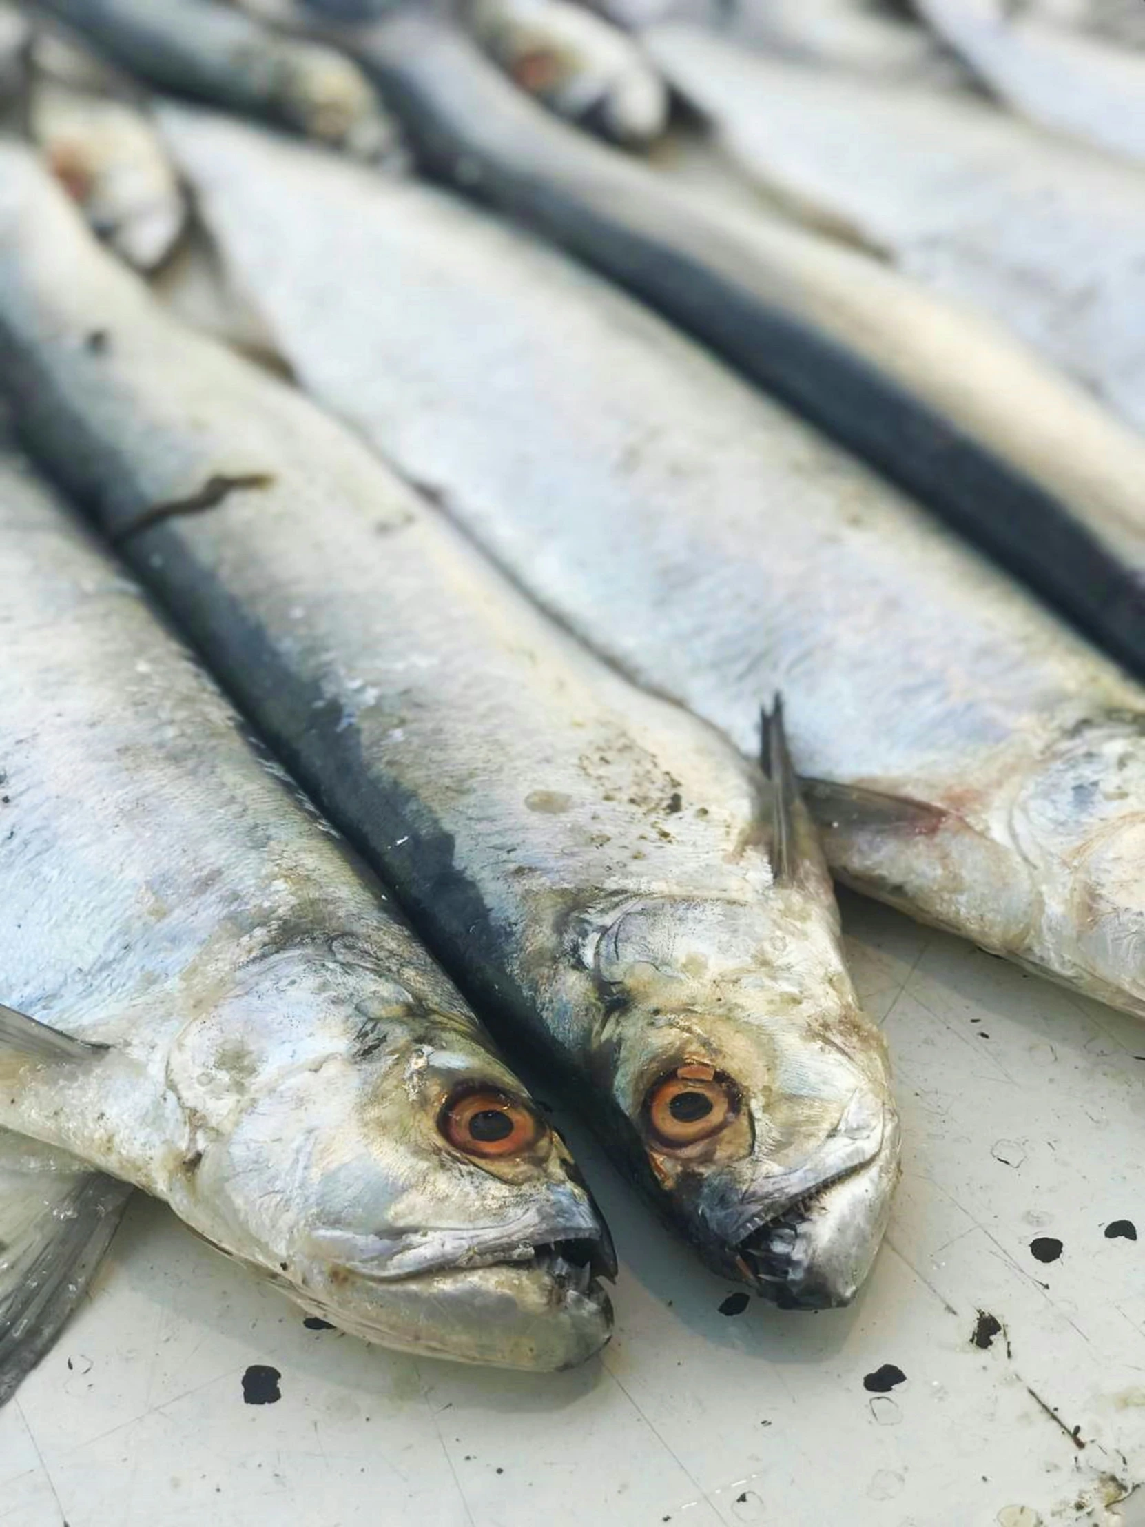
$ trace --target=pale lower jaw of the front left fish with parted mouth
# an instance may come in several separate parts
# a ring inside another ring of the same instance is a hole
[[[397,1351],[530,1373],[574,1368],[612,1335],[612,1304],[583,1241],[531,1248],[527,1261],[394,1281],[319,1267],[273,1281],[333,1325]]]

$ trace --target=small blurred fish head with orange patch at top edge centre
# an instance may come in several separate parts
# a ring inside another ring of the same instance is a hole
[[[664,131],[664,82],[600,17],[569,0],[467,0],[464,17],[510,78],[559,116],[631,147]]]

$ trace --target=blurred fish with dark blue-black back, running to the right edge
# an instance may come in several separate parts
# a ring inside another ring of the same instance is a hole
[[[692,171],[676,182],[591,140],[441,24],[405,15],[339,35],[426,176],[627,287],[1145,675],[1139,434],[1005,321],[858,240],[766,217],[731,185],[701,194]]]

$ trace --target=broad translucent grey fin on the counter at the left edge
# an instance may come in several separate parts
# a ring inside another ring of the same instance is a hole
[[[131,1185],[0,1130],[0,1405],[84,1296]]]

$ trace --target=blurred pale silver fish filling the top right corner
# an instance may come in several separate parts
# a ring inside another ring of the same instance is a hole
[[[1104,153],[1145,162],[1145,58],[1136,49],[1037,15],[1014,15],[1011,0],[916,5],[977,78],[1021,116]]]

